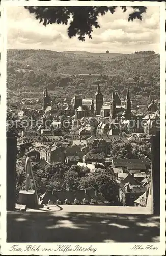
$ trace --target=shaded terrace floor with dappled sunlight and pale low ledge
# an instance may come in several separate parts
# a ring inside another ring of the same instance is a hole
[[[8,212],[7,242],[159,242],[159,216],[143,208],[62,205]]]

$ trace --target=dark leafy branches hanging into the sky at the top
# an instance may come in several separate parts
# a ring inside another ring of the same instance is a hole
[[[48,24],[68,25],[68,36],[78,36],[78,39],[85,41],[88,35],[92,39],[93,28],[100,28],[98,16],[105,15],[107,12],[114,14],[117,6],[25,6],[30,13],[34,13],[39,22],[44,26]],[[129,14],[128,20],[140,19],[146,12],[145,6],[133,6],[133,12]],[[127,7],[121,6],[122,12],[126,12]],[[122,14],[123,15],[123,14]],[[70,21],[72,17],[72,20]]]

